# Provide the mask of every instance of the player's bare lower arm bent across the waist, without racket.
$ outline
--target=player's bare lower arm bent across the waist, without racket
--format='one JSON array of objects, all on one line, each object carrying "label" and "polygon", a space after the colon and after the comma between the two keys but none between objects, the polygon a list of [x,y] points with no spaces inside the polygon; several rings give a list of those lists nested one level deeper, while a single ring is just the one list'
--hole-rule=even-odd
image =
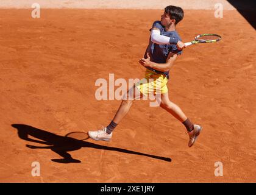
[{"label": "player's bare lower arm bent across the waist, without racket", "polygon": [[174,65],[175,60],[177,59],[177,54],[174,54],[172,52],[169,52],[169,55],[166,59],[166,63],[155,63],[150,61],[149,54],[147,54],[148,58],[147,59],[140,59],[140,64],[143,65],[144,67],[151,67],[154,68],[157,71],[162,71],[166,72],[171,69],[171,66]]}]

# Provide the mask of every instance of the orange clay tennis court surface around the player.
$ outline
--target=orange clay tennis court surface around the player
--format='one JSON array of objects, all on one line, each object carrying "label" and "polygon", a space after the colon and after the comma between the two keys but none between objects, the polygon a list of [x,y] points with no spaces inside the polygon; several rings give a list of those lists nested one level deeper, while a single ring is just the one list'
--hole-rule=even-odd
[{"label": "orange clay tennis court surface around the player", "polygon": [[96,80],[144,76],[138,59],[162,10],[30,13],[0,10],[1,182],[256,182],[255,30],[236,10],[185,10],[177,26],[183,41],[222,36],[186,48],[170,71],[171,101],[204,126],[191,148],[183,125],[149,101],[133,103],[109,143],[79,141],[121,103],[96,100]]}]

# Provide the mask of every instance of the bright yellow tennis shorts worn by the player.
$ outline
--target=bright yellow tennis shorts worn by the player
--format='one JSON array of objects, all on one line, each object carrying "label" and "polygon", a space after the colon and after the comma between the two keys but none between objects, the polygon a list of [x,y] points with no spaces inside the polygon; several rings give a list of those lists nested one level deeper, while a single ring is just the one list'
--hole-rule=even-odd
[{"label": "bright yellow tennis shorts worn by the player", "polygon": [[146,70],[145,76],[135,86],[142,94],[148,96],[149,93],[163,94],[168,92],[166,83],[168,82],[165,74],[157,74],[149,69]]}]

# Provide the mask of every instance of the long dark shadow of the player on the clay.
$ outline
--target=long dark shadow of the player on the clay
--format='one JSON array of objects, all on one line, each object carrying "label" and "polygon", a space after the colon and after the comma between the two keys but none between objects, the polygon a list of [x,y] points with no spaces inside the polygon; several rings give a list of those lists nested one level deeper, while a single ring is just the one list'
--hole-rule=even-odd
[{"label": "long dark shadow of the player on the clay", "polygon": [[[26,141],[34,143],[44,144],[46,146],[32,146],[26,144],[31,149],[51,149],[51,151],[59,154],[61,159],[51,159],[57,163],[80,163],[80,160],[74,159],[68,152],[76,151],[82,147],[92,147],[94,149],[103,149],[108,151],[117,151],[127,154],[143,155],[146,157],[156,158],[164,161],[171,161],[171,158],[159,157],[156,155],[144,154],[141,152],[129,151],[127,149],[121,149],[118,147],[101,146],[99,144],[90,143],[88,141],[81,141],[71,137],[64,137],[56,135],[46,130],[37,129],[26,124],[12,124],[12,127],[18,130],[18,136]],[[34,137],[34,138],[29,138]]]}]

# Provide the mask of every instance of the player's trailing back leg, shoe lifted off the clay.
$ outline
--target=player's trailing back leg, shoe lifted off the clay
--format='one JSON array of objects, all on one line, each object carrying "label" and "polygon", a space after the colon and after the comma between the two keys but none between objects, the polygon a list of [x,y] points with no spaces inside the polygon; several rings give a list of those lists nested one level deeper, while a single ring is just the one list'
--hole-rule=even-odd
[{"label": "player's trailing back leg, shoe lifted off the clay", "polygon": [[188,135],[190,137],[190,141],[188,142],[188,146],[191,147],[194,144],[194,141],[196,141],[197,137],[199,136],[202,127],[193,124],[190,119],[187,118],[187,116],[182,112],[180,107],[173,102],[169,101],[168,93],[161,94],[161,104],[160,107],[165,109],[167,112],[171,113],[172,116],[174,116],[176,119],[178,119],[182,124],[186,127],[188,131]]}]

